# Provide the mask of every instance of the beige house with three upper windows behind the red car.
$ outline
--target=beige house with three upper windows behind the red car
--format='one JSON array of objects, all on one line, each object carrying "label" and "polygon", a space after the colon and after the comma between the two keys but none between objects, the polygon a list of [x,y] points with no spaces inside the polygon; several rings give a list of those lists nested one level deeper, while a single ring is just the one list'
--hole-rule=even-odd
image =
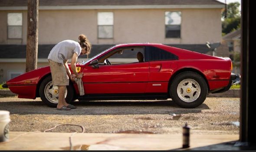
[{"label": "beige house with three upper windows behind the red car", "polygon": [[[223,8],[217,0],[39,0],[37,67],[48,65],[55,44],[78,41],[80,34],[92,43],[89,58],[114,44],[132,42],[212,55],[205,44],[222,40]],[[4,82],[25,72],[27,0],[0,0],[0,33],[0,82]]]}]

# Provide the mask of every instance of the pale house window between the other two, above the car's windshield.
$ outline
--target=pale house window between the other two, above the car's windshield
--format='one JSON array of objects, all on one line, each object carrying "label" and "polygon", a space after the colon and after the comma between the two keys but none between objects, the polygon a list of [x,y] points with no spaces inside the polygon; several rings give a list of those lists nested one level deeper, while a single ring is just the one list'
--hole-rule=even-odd
[{"label": "pale house window between the other two, above the car's windshield", "polygon": [[98,38],[113,38],[113,12],[98,12]]}]

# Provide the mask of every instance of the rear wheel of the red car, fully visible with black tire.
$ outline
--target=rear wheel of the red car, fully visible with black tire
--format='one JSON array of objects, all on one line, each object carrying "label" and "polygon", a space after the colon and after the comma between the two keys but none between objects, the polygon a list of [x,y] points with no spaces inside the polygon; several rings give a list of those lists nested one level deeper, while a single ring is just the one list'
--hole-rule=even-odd
[{"label": "rear wheel of the red car, fully visible with black tire", "polygon": [[208,94],[208,86],[203,77],[195,72],[179,73],[171,81],[170,96],[182,108],[196,108]]}]

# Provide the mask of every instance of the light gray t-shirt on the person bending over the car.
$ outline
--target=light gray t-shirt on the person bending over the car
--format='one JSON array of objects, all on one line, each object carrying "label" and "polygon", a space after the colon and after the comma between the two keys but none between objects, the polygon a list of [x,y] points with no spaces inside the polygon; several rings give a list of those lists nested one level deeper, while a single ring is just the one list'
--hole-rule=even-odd
[{"label": "light gray t-shirt on the person bending over the car", "polygon": [[53,49],[50,51],[48,59],[63,64],[63,61],[71,59],[74,53],[79,56],[81,51],[82,48],[78,42],[73,40],[64,40],[53,47]]}]

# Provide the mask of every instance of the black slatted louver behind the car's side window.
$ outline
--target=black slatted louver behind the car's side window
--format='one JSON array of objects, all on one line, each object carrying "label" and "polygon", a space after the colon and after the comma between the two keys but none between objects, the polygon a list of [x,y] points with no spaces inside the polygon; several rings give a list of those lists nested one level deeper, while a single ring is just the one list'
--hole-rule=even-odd
[{"label": "black slatted louver behind the car's side window", "polygon": [[178,60],[176,55],[153,46],[146,46],[145,57],[146,61]]}]

